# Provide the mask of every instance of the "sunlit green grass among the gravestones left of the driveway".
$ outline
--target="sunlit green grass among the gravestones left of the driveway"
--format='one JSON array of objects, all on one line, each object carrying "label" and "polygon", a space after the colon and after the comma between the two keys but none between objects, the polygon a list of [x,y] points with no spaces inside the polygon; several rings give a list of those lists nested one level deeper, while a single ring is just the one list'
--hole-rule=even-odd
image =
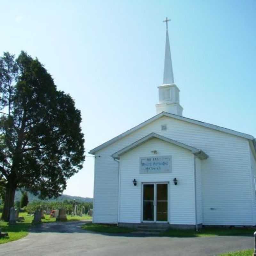
[{"label": "sunlit green grass among the gravestones left of the driveway", "polygon": [[[49,214],[44,214],[45,219],[42,219],[42,222],[54,222],[56,218],[50,218]],[[24,236],[28,235],[28,229],[32,225],[32,220],[34,219],[33,216],[27,216],[27,212],[20,212],[19,217],[24,217],[25,220],[22,222],[17,222],[16,224],[9,224],[8,222],[0,220],[0,228],[2,232],[8,233],[8,238],[0,238],[0,244],[4,244],[7,242],[18,240]],[[80,216],[71,216],[67,215],[68,221],[72,220],[90,220],[91,216],[84,215],[83,217]]]}]

